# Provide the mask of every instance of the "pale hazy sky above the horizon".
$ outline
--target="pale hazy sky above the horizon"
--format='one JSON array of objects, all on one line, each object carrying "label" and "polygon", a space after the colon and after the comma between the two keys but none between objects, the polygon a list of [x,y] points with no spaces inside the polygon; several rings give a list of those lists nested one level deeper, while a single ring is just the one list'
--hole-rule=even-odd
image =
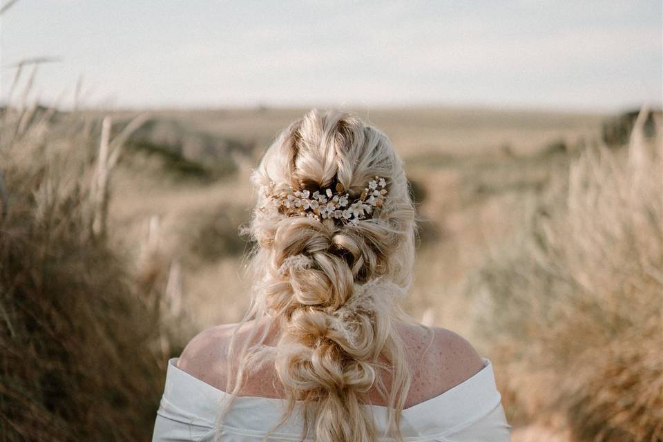
[{"label": "pale hazy sky above the horizon", "polygon": [[[7,0],[2,0],[2,3]],[[70,106],[661,106],[662,1],[19,0],[0,22],[0,99],[21,59]]]}]

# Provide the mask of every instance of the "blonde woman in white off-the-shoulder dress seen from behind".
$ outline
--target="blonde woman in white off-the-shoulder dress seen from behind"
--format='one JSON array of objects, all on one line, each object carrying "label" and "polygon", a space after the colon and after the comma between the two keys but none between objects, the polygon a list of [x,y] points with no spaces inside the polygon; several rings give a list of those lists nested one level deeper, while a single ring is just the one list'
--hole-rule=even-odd
[{"label": "blonde woman in white off-the-shoulder dress seen from behind", "polygon": [[169,362],[153,441],[509,441],[488,359],[399,307],[414,206],[387,137],[311,111],[253,182],[253,301]]}]

